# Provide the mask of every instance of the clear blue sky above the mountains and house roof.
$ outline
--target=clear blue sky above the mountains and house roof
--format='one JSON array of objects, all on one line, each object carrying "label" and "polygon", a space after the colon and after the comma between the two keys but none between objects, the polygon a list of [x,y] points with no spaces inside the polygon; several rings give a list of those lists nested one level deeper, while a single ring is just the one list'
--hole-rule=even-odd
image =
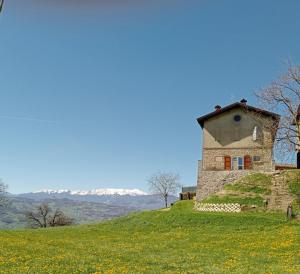
[{"label": "clear blue sky above the mountains and house roof", "polygon": [[196,118],[300,63],[299,0],[9,0],[0,177],[10,192],[196,183]]}]

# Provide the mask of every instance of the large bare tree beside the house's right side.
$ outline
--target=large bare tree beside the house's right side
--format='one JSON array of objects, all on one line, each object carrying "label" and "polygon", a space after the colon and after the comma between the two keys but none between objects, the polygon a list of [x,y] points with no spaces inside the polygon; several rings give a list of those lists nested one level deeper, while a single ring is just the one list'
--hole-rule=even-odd
[{"label": "large bare tree beside the house's right side", "polygon": [[281,115],[276,151],[281,158],[290,156],[300,144],[300,66],[290,66],[284,75],[255,95],[263,108]]}]

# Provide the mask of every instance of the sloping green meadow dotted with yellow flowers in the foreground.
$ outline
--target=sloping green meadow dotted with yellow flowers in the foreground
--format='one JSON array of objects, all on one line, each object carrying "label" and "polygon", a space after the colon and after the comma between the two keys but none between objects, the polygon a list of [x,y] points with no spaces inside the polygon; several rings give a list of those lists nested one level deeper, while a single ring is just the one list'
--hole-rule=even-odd
[{"label": "sloping green meadow dotted with yellow flowers in the foreground", "polygon": [[0,232],[0,273],[300,273],[284,215],[201,213],[192,202],[70,228]]}]

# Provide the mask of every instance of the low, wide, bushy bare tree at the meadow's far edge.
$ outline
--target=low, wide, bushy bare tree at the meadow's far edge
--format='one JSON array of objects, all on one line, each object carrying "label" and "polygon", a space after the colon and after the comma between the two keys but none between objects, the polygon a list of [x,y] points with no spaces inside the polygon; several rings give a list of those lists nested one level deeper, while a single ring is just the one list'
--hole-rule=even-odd
[{"label": "low, wide, bushy bare tree at the meadow's far edge", "polygon": [[36,211],[26,212],[26,218],[32,228],[67,226],[73,224],[73,220],[67,217],[61,210],[57,209],[52,214],[52,209],[46,203],[38,206]]}]

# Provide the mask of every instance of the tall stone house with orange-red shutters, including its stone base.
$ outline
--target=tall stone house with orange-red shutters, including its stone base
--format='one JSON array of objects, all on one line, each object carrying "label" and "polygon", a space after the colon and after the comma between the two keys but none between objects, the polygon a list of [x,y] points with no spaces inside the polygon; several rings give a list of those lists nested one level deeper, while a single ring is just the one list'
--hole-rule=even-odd
[{"label": "tall stone house with orange-red shutters, including its stone base", "polygon": [[197,200],[251,172],[275,170],[273,145],[280,116],[245,99],[197,119],[203,129]]}]

